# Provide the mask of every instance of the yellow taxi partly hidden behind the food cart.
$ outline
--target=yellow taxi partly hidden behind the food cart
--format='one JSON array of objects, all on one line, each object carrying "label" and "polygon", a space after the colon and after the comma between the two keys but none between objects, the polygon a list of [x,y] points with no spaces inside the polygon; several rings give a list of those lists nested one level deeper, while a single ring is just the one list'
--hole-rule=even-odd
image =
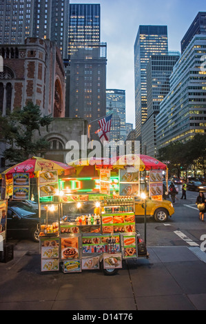
[{"label": "yellow taxi partly hidden behind the food cart", "polygon": [[[147,216],[154,217],[155,221],[159,223],[165,223],[174,214],[174,207],[171,201],[152,201],[152,199],[147,198],[146,207]],[[135,215],[145,215],[144,199],[135,198]]]}]

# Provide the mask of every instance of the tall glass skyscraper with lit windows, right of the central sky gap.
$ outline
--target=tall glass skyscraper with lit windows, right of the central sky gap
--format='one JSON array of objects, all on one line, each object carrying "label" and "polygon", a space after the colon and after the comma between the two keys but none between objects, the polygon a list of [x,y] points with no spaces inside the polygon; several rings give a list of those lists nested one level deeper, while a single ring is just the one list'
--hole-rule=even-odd
[{"label": "tall glass skyscraper with lit windows, right of the central sky gap", "polygon": [[134,43],[136,138],[147,119],[147,63],[151,55],[168,53],[167,26],[140,26]]}]

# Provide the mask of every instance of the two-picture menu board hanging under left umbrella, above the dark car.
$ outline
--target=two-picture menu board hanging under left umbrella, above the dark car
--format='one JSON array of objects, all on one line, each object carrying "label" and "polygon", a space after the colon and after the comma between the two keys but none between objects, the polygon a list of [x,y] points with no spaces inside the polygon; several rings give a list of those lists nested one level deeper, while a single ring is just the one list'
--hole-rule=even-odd
[{"label": "two-picture menu board hanging under left umbrella, above the dark car", "polygon": [[13,199],[15,200],[30,199],[30,174],[29,173],[13,174]]}]

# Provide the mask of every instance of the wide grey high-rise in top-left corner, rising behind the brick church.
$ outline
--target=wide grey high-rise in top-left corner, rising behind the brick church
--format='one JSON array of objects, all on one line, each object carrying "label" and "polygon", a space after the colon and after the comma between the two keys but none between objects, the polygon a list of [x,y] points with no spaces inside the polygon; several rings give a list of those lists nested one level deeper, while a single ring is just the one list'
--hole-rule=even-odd
[{"label": "wide grey high-rise in top-left corner, rising behind the brick church", "polygon": [[70,0],[5,0],[0,2],[0,43],[23,44],[27,37],[50,39],[68,57]]}]

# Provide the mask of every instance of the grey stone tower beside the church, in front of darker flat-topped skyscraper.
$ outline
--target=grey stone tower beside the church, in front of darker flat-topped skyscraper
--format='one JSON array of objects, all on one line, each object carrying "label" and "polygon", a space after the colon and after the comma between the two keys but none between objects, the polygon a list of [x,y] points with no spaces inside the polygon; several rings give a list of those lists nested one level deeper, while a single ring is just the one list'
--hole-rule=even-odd
[{"label": "grey stone tower beside the church, in front of darker flat-topped skyscraper", "polygon": [[106,49],[106,43],[91,43],[71,56],[69,117],[92,122],[92,134],[99,128],[97,119],[106,115]]}]

